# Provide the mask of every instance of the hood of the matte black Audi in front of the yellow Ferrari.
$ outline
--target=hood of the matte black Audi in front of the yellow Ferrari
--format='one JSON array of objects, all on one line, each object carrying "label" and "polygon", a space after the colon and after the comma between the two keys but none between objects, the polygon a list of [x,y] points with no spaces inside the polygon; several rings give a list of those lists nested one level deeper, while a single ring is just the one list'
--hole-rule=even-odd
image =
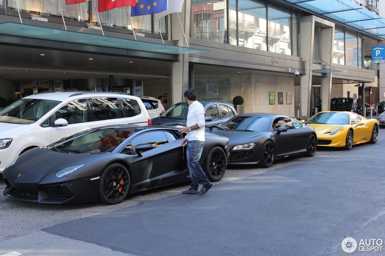
[{"label": "hood of the matte black Audi in front of the yellow Ferrari", "polygon": [[266,132],[259,131],[232,131],[219,129],[213,129],[213,133],[229,138],[229,146],[253,143],[266,134]]}]

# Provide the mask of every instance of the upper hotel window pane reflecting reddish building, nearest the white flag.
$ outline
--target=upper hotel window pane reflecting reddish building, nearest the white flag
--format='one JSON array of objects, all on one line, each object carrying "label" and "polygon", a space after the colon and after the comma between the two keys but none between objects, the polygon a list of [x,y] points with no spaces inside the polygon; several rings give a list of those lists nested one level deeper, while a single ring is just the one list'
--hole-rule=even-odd
[{"label": "upper hotel window pane reflecting reddish building, nearest the white flag", "polygon": [[226,1],[192,0],[191,37],[227,43]]}]

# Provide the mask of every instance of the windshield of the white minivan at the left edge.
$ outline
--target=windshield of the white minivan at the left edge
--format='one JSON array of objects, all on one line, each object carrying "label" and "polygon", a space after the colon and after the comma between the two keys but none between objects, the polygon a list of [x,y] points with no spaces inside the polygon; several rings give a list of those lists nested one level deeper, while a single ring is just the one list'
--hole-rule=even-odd
[{"label": "windshield of the white minivan at the left edge", "polygon": [[60,101],[22,99],[0,111],[0,122],[30,125],[47,114]]}]

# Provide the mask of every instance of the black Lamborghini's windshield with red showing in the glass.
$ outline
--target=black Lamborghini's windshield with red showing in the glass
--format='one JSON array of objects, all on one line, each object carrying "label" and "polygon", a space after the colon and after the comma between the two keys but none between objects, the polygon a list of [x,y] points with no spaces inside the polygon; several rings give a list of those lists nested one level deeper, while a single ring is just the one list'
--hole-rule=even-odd
[{"label": "black Lamborghini's windshield with red showing in the glass", "polygon": [[91,132],[79,133],[73,140],[53,143],[58,150],[67,152],[110,152],[119,146],[129,136],[146,129],[145,127],[100,128]]}]

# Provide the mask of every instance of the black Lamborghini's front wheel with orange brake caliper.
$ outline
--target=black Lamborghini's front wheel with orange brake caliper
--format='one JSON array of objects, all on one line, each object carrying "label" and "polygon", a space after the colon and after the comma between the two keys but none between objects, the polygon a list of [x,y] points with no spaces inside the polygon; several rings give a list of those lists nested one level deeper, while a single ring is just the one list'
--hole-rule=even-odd
[{"label": "black Lamborghini's front wheel with orange brake caliper", "polygon": [[130,188],[130,175],[123,165],[108,165],[99,180],[99,201],[104,204],[118,204],[126,198]]}]

